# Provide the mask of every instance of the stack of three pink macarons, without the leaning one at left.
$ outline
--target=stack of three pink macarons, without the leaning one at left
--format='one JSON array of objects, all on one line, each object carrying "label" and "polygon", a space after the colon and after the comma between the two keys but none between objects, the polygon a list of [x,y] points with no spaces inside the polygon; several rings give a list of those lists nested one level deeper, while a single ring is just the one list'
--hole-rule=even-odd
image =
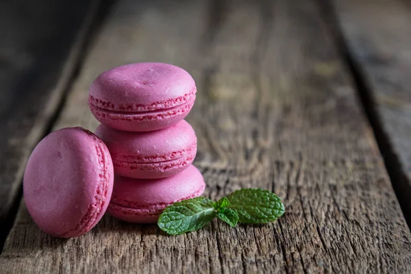
[{"label": "stack of three pink macarons, without the leaning one at left", "polygon": [[197,138],[183,120],[195,94],[190,74],[171,64],[128,64],[95,79],[88,103],[114,166],[112,216],[155,223],[166,206],[203,193]]}]

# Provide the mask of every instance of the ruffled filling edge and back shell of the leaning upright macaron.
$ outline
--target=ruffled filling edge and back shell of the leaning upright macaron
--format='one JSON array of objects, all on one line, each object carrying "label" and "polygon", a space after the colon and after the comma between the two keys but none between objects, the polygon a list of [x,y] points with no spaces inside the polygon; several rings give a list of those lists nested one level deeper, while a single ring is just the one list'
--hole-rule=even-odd
[{"label": "ruffled filling edge and back shell of the leaning upright macaron", "polygon": [[70,238],[73,236],[77,236],[79,233],[84,234],[88,232],[92,227],[94,227],[97,222],[100,220],[100,214],[103,212],[103,208],[105,206],[105,201],[106,199],[110,198],[108,197],[108,188],[109,188],[109,177],[108,175],[108,162],[110,159],[107,159],[105,155],[108,153],[107,149],[105,149],[105,145],[99,138],[95,136],[95,134],[92,134],[86,129],[83,129],[82,127],[77,127],[78,129],[81,129],[83,132],[88,134],[90,138],[92,138],[95,141],[95,149],[96,149],[96,154],[98,158],[99,164],[99,179],[100,182],[97,184],[97,189],[95,192],[95,197],[88,207],[88,210],[86,214],[84,214],[84,217],[82,218],[82,221],[80,221],[73,229],[71,229],[69,232],[65,232],[63,234],[58,234],[54,236],[59,236],[63,238]]}]

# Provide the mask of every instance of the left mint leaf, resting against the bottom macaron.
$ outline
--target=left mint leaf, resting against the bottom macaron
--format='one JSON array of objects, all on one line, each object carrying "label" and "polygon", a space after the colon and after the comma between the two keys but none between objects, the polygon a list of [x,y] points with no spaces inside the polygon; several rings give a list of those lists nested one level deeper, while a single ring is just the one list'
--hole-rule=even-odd
[{"label": "left mint leaf, resting against the bottom macaron", "polygon": [[166,207],[158,219],[158,227],[171,235],[195,231],[210,223],[216,216],[214,203],[197,197],[173,203]]}]

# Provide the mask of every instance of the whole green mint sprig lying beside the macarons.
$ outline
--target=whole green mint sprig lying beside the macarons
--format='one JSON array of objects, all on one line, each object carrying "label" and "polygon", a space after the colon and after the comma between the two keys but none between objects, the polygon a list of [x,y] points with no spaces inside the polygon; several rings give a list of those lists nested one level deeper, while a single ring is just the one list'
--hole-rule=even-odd
[{"label": "whole green mint sprig lying beside the macarons", "polygon": [[219,201],[197,197],[168,206],[158,227],[171,235],[195,231],[216,216],[235,227],[237,223],[269,223],[284,214],[281,199],[269,190],[242,188]]}]

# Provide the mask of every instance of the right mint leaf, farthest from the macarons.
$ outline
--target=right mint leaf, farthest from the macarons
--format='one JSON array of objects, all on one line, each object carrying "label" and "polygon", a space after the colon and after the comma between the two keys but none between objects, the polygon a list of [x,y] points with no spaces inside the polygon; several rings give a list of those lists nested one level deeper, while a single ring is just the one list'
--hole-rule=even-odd
[{"label": "right mint leaf, farthest from the macarons", "polygon": [[227,199],[231,204],[227,208],[236,210],[239,223],[269,223],[284,214],[281,199],[269,190],[242,188]]}]

